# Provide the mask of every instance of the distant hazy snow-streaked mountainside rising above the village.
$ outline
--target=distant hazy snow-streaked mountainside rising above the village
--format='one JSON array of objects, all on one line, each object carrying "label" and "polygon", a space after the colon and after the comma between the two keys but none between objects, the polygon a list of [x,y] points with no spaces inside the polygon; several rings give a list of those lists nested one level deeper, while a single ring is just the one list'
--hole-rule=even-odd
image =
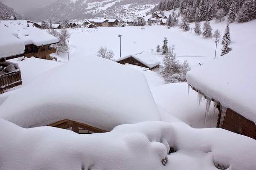
[{"label": "distant hazy snow-streaked mountainside rising above the village", "polygon": [[145,9],[150,11],[158,0],[58,0],[44,8],[31,10],[25,14],[29,20],[88,19],[91,17],[132,17]]}]

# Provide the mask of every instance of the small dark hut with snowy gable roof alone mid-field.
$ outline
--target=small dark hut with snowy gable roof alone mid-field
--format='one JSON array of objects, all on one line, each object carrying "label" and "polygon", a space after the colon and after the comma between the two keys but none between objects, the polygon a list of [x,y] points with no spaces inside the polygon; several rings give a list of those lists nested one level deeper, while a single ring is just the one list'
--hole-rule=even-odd
[{"label": "small dark hut with snowy gable roof alone mid-field", "polygon": [[118,62],[120,64],[128,63],[132,65],[137,65],[137,66],[149,68],[150,70],[153,70],[154,68],[157,68],[160,66],[160,61],[156,59],[154,55],[145,51],[139,54],[121,57],[119,59],[116,59],[115,62]]}]

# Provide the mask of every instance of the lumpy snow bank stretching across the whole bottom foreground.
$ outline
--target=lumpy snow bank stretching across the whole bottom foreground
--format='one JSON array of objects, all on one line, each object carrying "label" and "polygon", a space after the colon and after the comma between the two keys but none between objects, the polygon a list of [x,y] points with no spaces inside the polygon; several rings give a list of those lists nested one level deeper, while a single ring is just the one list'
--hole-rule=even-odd
[{"label": "lumpy snow bank stretching across the whole bottom foreground", "polygon": [[[168,155],[170,147],[177,152]],[[0,119],[4,170],[216,170],[218,164],[228,170],[253,170],[255,150],[254,139],[184,123],[143,122],[79,135],[55,127],[23,129]]]}]

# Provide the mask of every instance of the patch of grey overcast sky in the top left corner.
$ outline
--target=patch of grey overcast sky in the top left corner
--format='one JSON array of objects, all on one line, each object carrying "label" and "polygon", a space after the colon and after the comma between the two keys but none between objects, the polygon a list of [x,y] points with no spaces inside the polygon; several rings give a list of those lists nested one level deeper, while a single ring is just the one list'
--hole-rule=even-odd
[{"label": "patch of grey overcast sky in the top left corner", "polygon": [[56,0],[0,0],[2,3],[14,8],[15,11],[23,14],[31,8],[40,8]]}]

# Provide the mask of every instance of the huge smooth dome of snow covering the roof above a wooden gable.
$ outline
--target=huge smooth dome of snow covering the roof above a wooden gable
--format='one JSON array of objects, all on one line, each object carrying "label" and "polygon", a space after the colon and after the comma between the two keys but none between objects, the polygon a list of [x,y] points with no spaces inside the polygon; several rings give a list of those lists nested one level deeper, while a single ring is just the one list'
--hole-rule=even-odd
[{"label": "huge smooth dome of snow covering the roof above a wooden gable", "polygon": [[72,119],[104,130],[160,120],[144,75],[100,57],[77,59],[41,74],[3,102],[0,117],[21,127]]}]

